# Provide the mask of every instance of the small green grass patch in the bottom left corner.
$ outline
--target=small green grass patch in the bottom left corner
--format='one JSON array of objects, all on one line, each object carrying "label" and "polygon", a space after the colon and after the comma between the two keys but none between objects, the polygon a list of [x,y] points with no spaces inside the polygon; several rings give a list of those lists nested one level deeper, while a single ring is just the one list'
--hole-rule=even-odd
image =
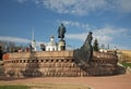
[{"label": "small green grass patch in the bottom left corner", "polygon": [[4,85],[0,86],[0,89],[29,89],[27,86],[21,86],[21,85]]}]

